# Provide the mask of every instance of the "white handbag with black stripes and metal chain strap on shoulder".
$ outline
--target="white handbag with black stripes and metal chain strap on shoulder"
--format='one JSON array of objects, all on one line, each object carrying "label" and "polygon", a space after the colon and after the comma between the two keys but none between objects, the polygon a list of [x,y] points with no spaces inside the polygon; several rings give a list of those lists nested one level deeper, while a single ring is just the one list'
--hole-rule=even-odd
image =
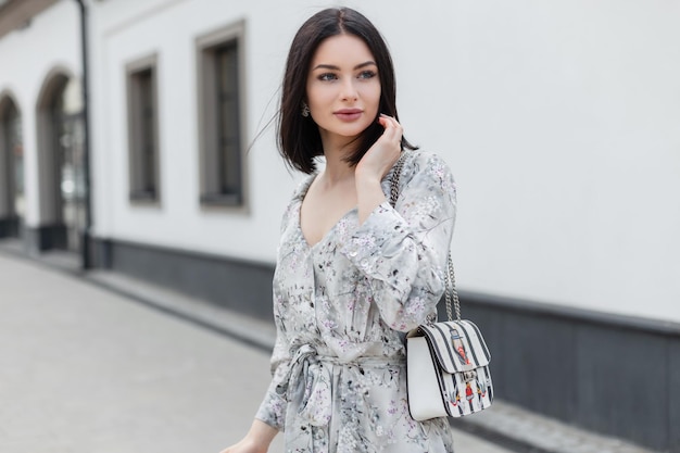
[{"label": "white handbag with black stripes and metal chain strap on shoulder", "polygon": [[[402,156],[391,180],[392,206],[399,197]],[[448,322],[430,322],[406,335],[408,410],[415,420],[462,417],[491,405],[493,385],[489,373],[491,355],[475,324],[461,319],[453,262],[449,253],[446,273]],[[451,304],[455,306],[453,319]]]}]

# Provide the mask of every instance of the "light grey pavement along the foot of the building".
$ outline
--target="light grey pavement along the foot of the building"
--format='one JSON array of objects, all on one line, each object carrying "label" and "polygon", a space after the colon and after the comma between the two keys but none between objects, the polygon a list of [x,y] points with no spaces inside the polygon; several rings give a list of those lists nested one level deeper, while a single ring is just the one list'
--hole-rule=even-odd
[{"label": "light grey pavement along the foot of the building", "polygon": [[[260,404],[272,334],[143,282],[0,250],[0,452],[219,452]],[[455,437],[458,453],[509,452]]]}]

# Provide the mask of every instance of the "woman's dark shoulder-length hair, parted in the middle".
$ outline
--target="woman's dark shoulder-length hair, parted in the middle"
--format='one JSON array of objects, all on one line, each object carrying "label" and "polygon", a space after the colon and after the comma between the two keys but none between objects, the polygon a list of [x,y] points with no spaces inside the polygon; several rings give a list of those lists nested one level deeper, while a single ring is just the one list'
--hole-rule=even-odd
[{"label": "woman's dark shoulder-length hair, parted in the middle", "polygon": [[[312,58],[326,38],[337,35],[353,35],[362,39],[378,66],[380,79],[380,105],[378,114],[396,114],[396,84],[394,65],[378,29],[364,15],[350,8],[329,8],[310,17],[293,38],[286,63],[281,106],[278,121],[279,152],[294,168],[304,173],[316,171],[314,158],[324,154],[318,126],[312,116],[302,116],[302,102],[306,98],[307,74]],[[368,149],[382,135],[385,128],[375,118],[357,138],[356,150],[348,156],[351,165],[356,165]],[[417,149],[402,137],[403,149]]]}]

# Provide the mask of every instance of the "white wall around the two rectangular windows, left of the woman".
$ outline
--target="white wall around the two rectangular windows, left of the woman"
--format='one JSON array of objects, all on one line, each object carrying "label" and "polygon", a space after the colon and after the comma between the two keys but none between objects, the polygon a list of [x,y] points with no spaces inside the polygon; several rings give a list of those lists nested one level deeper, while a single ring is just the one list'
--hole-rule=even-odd
[{"label": "white wall around the two rectangular windows, left of the woman", "polygon": [[[96,232],[207,253],[270,262],[280,214],[294,187],[274,146],[273,128],[247,155],[248,211],[202,209],[199,204],[196,39],[245,21],[247,140],[274,114],[276,90],[290,32],[281,27],[287,8],[257,2],[167,1],[111,2],[97,10],[102,77],[96,77],[96,175],[105,180],[98,192]],[[257,13],[261,11],[261,13]],[[307,12],[315,9],[305,8]],[[113,20],[111,17],[114,17]],[[291,23],[298,23],[295,18]],[[290,23],[286,24],[291,28]],[[278,36],[286,38],[278,39]],[[160,99],[161,206],[131,205],[127,200],[125,65],[158,55]],[[267,103],[274,99],[269,110]],[[105,212],[104,212],[105,211]]]}]

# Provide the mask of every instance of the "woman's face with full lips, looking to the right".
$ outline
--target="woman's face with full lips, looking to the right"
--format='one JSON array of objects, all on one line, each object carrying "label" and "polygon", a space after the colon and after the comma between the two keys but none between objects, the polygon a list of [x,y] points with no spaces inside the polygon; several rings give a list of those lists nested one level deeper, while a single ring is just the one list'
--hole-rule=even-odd
[{"label": "woman's face with full lips, looking to the right", "polygon": [[363,133],[380,105],[378,66],[368,46],[353,35],[325,39],[312,58],[306,93],[325,147]]}]

